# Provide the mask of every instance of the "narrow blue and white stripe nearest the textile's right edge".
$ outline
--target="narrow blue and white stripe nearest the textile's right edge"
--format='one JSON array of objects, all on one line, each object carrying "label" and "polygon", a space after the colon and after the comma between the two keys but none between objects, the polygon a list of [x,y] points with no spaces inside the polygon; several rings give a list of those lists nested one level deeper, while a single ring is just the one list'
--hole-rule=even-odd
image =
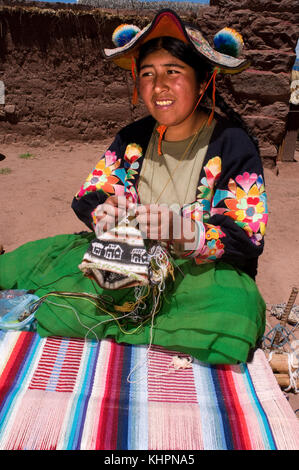
[{"label": "narrow blue and white stripe nearest the textile's right edge", "polygon": [[247,364],[240,364],[240,368],[244,372],[246,377],[246,380],[244,380],[245,386],[247,388],[248,395],[251,397],[252,406],[256,410],[256,415],[260,423],[260,430],[265,443],[265,449],[277,450],[277,446],[271,431],[271,427],[269,425],[268,418],[256,394]]}]

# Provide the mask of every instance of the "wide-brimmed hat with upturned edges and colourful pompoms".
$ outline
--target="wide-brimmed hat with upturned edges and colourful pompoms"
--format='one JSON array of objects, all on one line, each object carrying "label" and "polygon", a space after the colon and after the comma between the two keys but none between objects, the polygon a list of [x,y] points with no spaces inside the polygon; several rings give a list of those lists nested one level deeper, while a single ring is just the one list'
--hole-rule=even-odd
[{"label": "wide-brimmed hat with upturned edges and colourful pompoms", "polygon": [[132,59],[138,57],[141,45],[161,36],[174,37],[190,44],[199,58],[217,67],[220,73],[239,73],[250,65],[247,59],[239,58],[243,39],[237,31],[231,28],[219,31],[214,37],[213,48],[198,27],[184,24],[170,9],[159,11],[142,30],[134,25],[118,26],[113,33],[113,42],[117,47],[104,49],[104,57],[123,69],[131,70]]}]

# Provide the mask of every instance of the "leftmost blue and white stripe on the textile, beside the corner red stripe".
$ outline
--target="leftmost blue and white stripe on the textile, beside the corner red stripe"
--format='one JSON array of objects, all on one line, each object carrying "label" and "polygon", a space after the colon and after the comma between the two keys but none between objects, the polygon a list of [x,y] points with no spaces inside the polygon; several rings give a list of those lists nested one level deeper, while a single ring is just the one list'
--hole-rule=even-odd
[{"label": "leftmost blue and white stripe on the textile, beside the corner red stripe", "polygon": [[[9,334],[17,334],[19,336],[19,333],[7,333],[7,335]],[[13,404],[18,399],[19,394],[25,389],[24,384],[28,381],[30,373],[35,366],[35,356],[38,354],[40,346],[42,346],[42,341],[43,340],[38,335],[32,334],[31,341],[27,344],[26,351],[24,351],[24,349],[22,350],[24,359],[20,364],[13,383],[10,385],[9,392],[3,400],[0,410],[0,438],[14,410]]]}]

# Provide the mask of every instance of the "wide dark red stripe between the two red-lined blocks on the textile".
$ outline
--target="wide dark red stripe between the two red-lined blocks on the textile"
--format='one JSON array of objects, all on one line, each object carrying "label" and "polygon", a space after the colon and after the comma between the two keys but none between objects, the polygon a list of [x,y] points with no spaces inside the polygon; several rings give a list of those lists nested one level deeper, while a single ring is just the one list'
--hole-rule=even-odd
[{"label": "wide dark red stripe between the two red-lined blocks on the textile", "polygon": [[98,423],[96,450],[114,450],[117,447],[118,409],[123,357],[124,345],[111,342],[105,391]]}]

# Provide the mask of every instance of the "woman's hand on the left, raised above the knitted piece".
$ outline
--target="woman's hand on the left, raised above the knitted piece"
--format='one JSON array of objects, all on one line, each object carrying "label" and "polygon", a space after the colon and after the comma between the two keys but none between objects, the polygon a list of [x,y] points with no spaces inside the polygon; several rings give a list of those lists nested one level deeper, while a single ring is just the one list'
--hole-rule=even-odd
[{"label": "woman's hand on the left, raised above the knitted piece", "polygon": [[100,204],[94,212],[96,236],[99,237],[103,232],[116,227],[119,221],[125,217],[130,204],[125,196],[110,196],[104,204]]}]

